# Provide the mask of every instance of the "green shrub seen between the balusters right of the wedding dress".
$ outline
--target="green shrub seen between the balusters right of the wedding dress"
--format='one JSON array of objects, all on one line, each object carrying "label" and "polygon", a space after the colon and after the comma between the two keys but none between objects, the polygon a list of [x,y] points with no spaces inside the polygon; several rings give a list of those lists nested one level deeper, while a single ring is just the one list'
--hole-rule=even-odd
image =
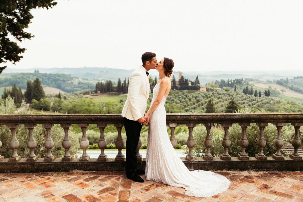
[{"label": "green shrub seen between the balusters right of the wedding dress", "polygon": [[[290,126],[286,126],[282,129],[282,138],[285,142],[291,142],[291,136],[293,136],[289,127]],[[247,127],[246,136],[248,139],[248,147],[245,151],[248,156],[255,156],[255,154],[258,154],[259,148],[257,146],[257,139],[259,137],[259,134],[259,127],[255,123],[251,123],[250,126]],[[241,135],[242,129],[240,125],[232,124],[232,126],[229,127],[228,137],[231,141],[231,146],[228,148],[228,153],[232,157],[236,157],[241,153],[241,146],[239,145]],[[265,156],[271,156],[277,151],[274,145],[276,135],[277,129],[275,125],[269,123],[268,126],[264,129],[264,138],[266,145],[263,149],[263,153]],[[211,128],[210,136],[213,141],[213,146],[211,147],[210,152],[213,156],[219,157],[224,152],[224,148],[221,145],[221,141],[224,136],[223,127],[221,127],[221,125],[215,124],[214,127]],[[206,152],[206,148],[204,146],[206,128],[202,124],[197,125],[193,130],[193,137],[195,140],[195,147],[193,148],[193,152],[195,153],[195,156],[201,157]],[[188,153],[187,146],[184,146],[184,149]],[[283,151],[281,153],[284,156],[288,155]]]}]

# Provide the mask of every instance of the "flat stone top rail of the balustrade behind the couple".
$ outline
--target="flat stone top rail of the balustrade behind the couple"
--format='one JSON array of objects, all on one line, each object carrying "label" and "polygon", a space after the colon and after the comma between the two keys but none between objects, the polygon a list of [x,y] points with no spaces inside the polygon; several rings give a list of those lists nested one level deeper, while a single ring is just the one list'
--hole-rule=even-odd
[{"label": "flat stone top rail of the balustrade behind the couple", "polygon": [[[303,123],[303,113],[169,113],[167,123]],[[1,114],[0,124],[123,123],[121,114]]]}]

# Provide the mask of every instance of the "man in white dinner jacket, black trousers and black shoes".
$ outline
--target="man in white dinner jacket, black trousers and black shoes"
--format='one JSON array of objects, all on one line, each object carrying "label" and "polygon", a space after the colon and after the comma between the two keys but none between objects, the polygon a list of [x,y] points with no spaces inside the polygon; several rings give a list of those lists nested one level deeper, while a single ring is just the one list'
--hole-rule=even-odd
[{"label": "man in white dinner jacket, black trousers and black shoes", "polygon": [[143,118],[149,97],[149,73],[147,71],[155,69],[158,64],[156,54],[151,52],[143,53],[141,59],[142,65],[132,73],[129,79],[127,99],[121,114],[126,132],[126,176],[136,182],[144,182],[138,174],[145,173],[143,170],[136,169],[136,148],[142,124],[147,125],[148,123],[148,120]]}]

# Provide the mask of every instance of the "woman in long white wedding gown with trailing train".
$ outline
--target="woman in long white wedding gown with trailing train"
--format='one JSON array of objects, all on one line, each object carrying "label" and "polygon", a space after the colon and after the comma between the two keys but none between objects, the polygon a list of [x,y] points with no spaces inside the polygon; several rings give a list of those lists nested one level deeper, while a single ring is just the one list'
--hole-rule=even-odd
[{"label": "woman in long white wedding gown with trailing train", "polygon": [[171,145],[166,129],[165,100],[171,89],[169,77],[174,62],[163,58],[156,66],[159,80],[153,90],[151,107],[145,115],[149,122],[145,177],[146,180],[185,188],[185,194],[211,197],[228,189],[230,181],[211,171],[189,171]]}]

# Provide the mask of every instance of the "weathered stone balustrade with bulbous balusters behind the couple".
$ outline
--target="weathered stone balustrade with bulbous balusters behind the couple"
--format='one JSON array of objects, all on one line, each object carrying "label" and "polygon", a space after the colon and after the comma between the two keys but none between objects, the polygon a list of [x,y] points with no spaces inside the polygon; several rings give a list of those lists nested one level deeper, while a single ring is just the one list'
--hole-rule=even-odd
[{"label": "weathered stone balustrade with bulbous balusters behind the couple", "polygon": [[[210,135],[211,127],[214,124],[221,124],[224,129],[224,137],[222,139],[222,147],[224,148],[223,154],[220,157],[213,157],[210,153],[210,148],[213,142]],[[254,157],[248,157],[245,153],[245,148],[248,146],[248,139],[246,134],[247,127],[255,123],[260,129],[260,134],[257,140],[259,152]],[[264,129],[268,123],[273,123],[277,127],[277,137],[275,138],[275,146],[277,151],[271,157],[265,156],[263,148],[266,145],[264,138]],[[295,128],[295,136],[291,144],[294,151],[289,157],[284,157],[281,154],[281,147],[283,140],[281,138],[281,129],[286,123],[291,123]],[[11,140],[9,147],[12,149],[12,156],[5,159],[0,154],[0,172],[45,172],[45,171],[71,171],[71,170],[124,170],[125,169],[125,156],[122,154],[124,141],[121,136],[123,127],[123,119],[120,114],[43,114],[43,115],[0,115],[0,124],[6,125],[11,130]],[[42,124],[46,130],[45,148],[47,155],[45,158],[40,159],[34,153],[37,144],[33,137],[33,129],[37,124]],[[65,154],[62,158],[52,155],[52,148],[54,142],[50,135],[51,129],[54,124],[60,124],[63,128],[65,136],[62,140],[62,147],[65,149]],[[78,124],[82,129],[82,138],[80,140],[80,147],[83,150],[81,158],[76,158],[70,155],[69,148],[72,143],[68,137],[68,130],[71,124]],[[89,146],[89,141],[86,137],[86,129],[89,124],[97,124],[100,129],[100,139],[98,146],[101,150],[98,158],[90,158],[86,150]],[[106,148],[106,140],[104,137],[104,129],[108,124],[114,124],[118,131],[118,137],[115,142],[118,148],[118,154],[115,158],[107,158],[104,149]],[[186,145],[189,153],[186,158],[181,158],[185,165],[193,169],[202,170],[280,170],[280,171],[296,171],[303,170],[302,157],[298,154],[298,148],[301,146],[300,127],[303,126],[302,113],[243,113],[243,114],[167,114],[167,124],[171,129],[170,141],[173,147],[177,145],[175,139],[175,127],[177,124],[185,124],[188,127],[188,139]],[[206,153],[201,158],[195,157],[193,148],[195,140],[192,131],[196,124],[203,124],[206,128],[206,138],[204,145]],[[228,148],[231,141],[228,138],[228,129],[232,124],[239,124],[242,129],[239,145],[241,146],[241,153],[237,157],[231,157],[228,154]],[[29,138],[27,147],[30,154],[26,159],[22,159],[17,154],[19,147],[18,139],[16,138],[15,131],[18,125],[24,125],[28,129]],[[2,142],[0,140],[0,147]],[[145,158],[140,155],[140,147],[142,145],[139,140],[136,155],[138,167],[145,167]],[[266,163],[265,163],[266,162]]]}]

